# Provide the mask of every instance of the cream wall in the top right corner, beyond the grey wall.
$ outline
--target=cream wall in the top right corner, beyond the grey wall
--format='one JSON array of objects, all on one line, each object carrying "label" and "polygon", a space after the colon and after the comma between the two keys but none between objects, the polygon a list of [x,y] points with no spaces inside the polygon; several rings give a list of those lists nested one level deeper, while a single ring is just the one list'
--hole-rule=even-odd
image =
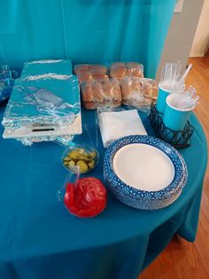
[{"label": "cream wall in the top right corner, beyond the grey wall", "polygon": [[203,57],[209,46],[209,0],[205,0],[199,18],[190,57]]}]

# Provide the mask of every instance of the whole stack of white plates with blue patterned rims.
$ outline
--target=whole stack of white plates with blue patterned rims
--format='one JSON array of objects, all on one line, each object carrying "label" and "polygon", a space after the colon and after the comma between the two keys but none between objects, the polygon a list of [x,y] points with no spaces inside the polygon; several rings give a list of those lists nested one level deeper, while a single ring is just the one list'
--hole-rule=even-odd
[{"label": "whole stack of white plates with blue patterned rims", "polygon": [[124,137],[104,155],[104,179],[112,195],[138,209],[155,210],[173,203],[187,178],[182,155],[154,137]]}]

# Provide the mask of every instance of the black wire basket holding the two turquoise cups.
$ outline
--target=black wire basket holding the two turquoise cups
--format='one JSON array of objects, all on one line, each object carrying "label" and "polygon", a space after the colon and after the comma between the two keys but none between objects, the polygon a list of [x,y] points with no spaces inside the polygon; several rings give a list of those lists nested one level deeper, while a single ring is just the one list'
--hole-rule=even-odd
[{"label": "black wire basket holding the two turquoise cups", "polygon": [[194,127],[190,124],[190,121],[187,122],[182,131],[174,131],[167,128],[163,123],[163,115],[159,113],[156,108],[155,101],[151,103],[151,114],[149,119],[151,121],[151,126],[159,139],[165,140],[176,149],[190,147],[191,136],[194,132]]}]

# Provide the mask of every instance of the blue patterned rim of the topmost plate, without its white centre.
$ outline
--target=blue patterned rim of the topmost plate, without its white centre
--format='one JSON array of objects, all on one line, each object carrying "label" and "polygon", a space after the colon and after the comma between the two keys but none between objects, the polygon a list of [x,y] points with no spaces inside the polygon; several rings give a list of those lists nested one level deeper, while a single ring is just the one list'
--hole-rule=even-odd
[{"label": "blue patterned rim of the topmost plate, without its white centre", "polygon": [[[129,186],[115,174],[113,170],[114,155],[121,147],[133,143],[143,143],[152,147],[156,147],[168,156],[168,158],[174,165],[174,179],[169,185],[157,191],[140,190],[135,187]],[[178,168],[180,168],[181,170],[177,168],[177,164]],[[178,171],[181,172],[178,173]],[[131,195],[135,196],[136,198],[147,199],[165,199],[170,197],[171,195],[175,195],[179,190],[182,189],[182,187],[184,187],[188,179],[188,170],[186,163],[182,158],[182,155],[164,140],[160,140],[149,135],[130,135],[112,142],[112,144],[106,149],[104,154],[104,173],[106,179],[114,187],[117,187],[118,189],[120,189],[120,191],[122,190],[124,195]]]}]

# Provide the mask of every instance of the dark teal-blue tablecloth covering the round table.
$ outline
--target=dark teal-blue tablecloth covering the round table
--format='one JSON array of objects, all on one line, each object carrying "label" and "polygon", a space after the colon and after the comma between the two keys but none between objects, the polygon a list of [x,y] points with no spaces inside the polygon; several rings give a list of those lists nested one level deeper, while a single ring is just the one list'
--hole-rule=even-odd
[{"label": "dark teal-blue tablecloth covering the round table", "polygon": [[[82,114],[93,141],[94,116],[94,111]],[[143,121],[151,134],[148,119]],[[67,174],[60,163],[64,147],[53,142],[23,147],[1,139],[0,278],[134,279],[175,233],[194,241],[206,141],[196,116],[191,123],[192,146],[181,151],[189,179],[177,201],[159,211],[140,211],[109,194],[107,208],[94,219],[77,219],[58,203],[56,192]],[[90,175],[103,179],[104,148],[98,135],[100,161]],[[76,141],[89,142],[87,133]]]}]

